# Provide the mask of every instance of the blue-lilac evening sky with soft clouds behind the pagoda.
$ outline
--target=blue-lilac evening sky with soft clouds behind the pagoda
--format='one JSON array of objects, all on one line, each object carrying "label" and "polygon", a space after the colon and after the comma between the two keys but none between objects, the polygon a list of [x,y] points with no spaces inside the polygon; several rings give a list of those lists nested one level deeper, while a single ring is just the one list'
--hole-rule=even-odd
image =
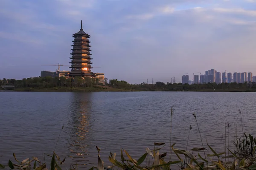
[{"label": "blue-lilac evening sky with soft clouds behind the pagoda", "polygon": [[211,68],[256,75],[256,0],[0,0],[0,79],[70,65],[81,20],[92,71],[108,79],[180,82]]}]

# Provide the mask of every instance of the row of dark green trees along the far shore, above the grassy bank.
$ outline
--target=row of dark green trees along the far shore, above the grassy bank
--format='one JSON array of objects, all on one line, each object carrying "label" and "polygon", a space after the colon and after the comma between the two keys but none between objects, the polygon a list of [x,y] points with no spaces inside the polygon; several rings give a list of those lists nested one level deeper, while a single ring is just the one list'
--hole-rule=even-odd
[{"label": "row of dark green trees along the far shore, above the grassy bank", "polygon": [[[255,82],[244,83],[206,83],[206,84],[182,84],[182,83],[164,83],[155,84],[130,84],[124,80],[110,79],[104,80],[106,86],[113,88],[134,90],[134,91],[246,91],[255,90]],[[103,85],[99,79],[85,77],[75,77],[66,79],[65,77],[32,77],[27,79],[0,79],[0,86],[15,85],[16,88],[53,88],[53,87],[93,87]]]}]

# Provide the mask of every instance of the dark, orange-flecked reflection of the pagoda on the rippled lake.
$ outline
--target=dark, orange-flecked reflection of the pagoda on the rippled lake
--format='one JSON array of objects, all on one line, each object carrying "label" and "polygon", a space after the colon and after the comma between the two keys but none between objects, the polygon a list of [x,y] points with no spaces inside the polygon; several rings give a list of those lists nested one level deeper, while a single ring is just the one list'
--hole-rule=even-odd
[{"label": "dark, orange-flecked reflection of the pagoda on the rippled lake", "polygon": [[69,157],[78,165],[85,165],[88,162],[88,149],[90,148],[91,126],[91,101],[90,93],[74,93],[73,102],[70,105],[70,119],[67,122],[67,135]]}]

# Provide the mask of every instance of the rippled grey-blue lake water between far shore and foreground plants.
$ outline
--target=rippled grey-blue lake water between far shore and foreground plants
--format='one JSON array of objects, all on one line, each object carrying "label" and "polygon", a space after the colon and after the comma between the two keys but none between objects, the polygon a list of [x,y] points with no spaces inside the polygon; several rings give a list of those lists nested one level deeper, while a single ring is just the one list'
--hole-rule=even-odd
[{"label": "rippled grey-blue lake water between far shore and foreground plants", "polygon": [[67,157],[66,164],[87,168],[97,165],[96,145],[105,165],[109,152],[119,155],[121,148],[138,159],[154,142],[166,142],[162,152],[168,152],[171,106],[176,148],[186,149],[190,125],[188,149],[201,147],[195,112],[205,145],[207,140],[224,150],[226,120],[233,149],[234,122],[241,136],[239,109],[244,131],[255,134],[255,99],[256,93],[0,92],[0,163],[14,160],[12,153],[20,161],[32,156],[43,161],[44,153],[55,149],[61,159]]}]

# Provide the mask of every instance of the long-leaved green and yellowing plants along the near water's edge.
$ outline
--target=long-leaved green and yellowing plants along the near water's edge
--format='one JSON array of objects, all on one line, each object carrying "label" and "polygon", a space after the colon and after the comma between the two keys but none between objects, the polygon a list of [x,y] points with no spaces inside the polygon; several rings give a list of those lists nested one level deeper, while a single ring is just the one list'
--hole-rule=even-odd
[{"label": "long-leaved green and yellowing plants along the near water's edge", "polygon": [[[171,109],[171,119],[174,109]],[[170,145],[169,159],[167,152],[161,152],[165,147],[165,143],[154,143],[153,147],[145,149],[139,159],[134,159],[128,151],[121,149],[120,154],[110,153],[108,156],[109,162],[103,162],[100,156],[100,149],[98,150],[98,163],[97,166],[91,167],[90,170],[255,170],[256,169],[256,137],[251,134],[244,133],[241,116],[241,130],[242,136],[238,138],[237,125],[234,123],[234,136],[236,139],[233,141],[235,150],[230,150],[229,136],[231,136],[229,127],[230,124],[225,123],[225,139],[222,138],[224,144],[224,150],[221,153],[217,153],[208,142],[204,146],[201,132],[200,132],[200,120],[198,120],[195,113],[192,116],[195,118],[196,131],[198,132],[198,139],[201,140],[201,146],[192,147],[188,149],[189,133],[192,127],[189,127],[187,145],[183,149],[177,149],[176,143]],[[170,126],[172,129],[172,125]],[[63,127],[62,127],[63,128]],[[61,134],[61,133],[60,133]],[[227,135],[226,135],[227,134]],[[184,137],[184,136],[183,136]],[[170,131],[170,143],[172,140],[172,131]],[[58,143],[58,141],[57,141]],[[57,144],[56,143],[56,144]],[[209,154],[206,154],[206,151]],[[173,153],[173,154],[172,154]],[[47,165],[46,162],[39,161],[38,158],[26,158],[23,161],[18,161],[15,153],[13,153],[14,161],[9,160],[8,164],[0,164],[1,169],[17,169],[17,170],[67,170],[67,165],[64,164],[66,158],[60,158],[54,151],[52,155],[44,154],[51,157],[51,161]],[[44,159],[45,160],[45,159]],[[17,164],[14,162],[17,161]],[[81,167],[76,164],[71,164],[69,170],[77,170]]]}]

